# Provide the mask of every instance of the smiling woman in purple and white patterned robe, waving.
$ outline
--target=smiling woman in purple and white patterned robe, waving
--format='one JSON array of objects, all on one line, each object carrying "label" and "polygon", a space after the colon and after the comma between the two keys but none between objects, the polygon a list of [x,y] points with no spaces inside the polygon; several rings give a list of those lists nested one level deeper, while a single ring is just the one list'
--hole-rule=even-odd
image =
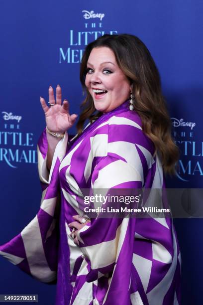
[{"label": "smiling woman in purple and white patterned robe, waving", "polygon": [[77,115],[62,104],[60,86],[56,101],[49,88],[50,108],[40,98],[47,125],[38,144],[41,208],[0,253],[43,282],[57,271],[56,304],[180,304],[171,218],[90,219],[84,212],[84,189],[162,189],[163,169],[174,171],[178,151],[156,65],[137,37],[104,35],[87,46],[80,79],[87,97],[75,138],[67,131]]}]

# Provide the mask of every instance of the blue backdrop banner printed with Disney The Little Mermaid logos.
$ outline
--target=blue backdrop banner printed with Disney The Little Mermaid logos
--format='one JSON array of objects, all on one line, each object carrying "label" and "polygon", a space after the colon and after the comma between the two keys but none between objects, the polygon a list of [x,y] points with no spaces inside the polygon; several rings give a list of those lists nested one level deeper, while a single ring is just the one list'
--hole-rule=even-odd
[{"label": "blue backdrop banner printed with Disney The Little Mermaid logos", "polygon": [[[3,0],[0,5],[0,244],[39,209],[36,145],[45,127],[39,97],[48,101],[49,86],[60,84],[70,112],[79,114],[80,60],[86,45],[105,33],[138,36],[160,71],[181,151],[168,187],[203,188],[201,0]],[[175,226],[183,304],[202,304],[203,219],[176,219]],[[55,286],[0,257],[0,294],[38,295],[39,304],[54,305]]]}]

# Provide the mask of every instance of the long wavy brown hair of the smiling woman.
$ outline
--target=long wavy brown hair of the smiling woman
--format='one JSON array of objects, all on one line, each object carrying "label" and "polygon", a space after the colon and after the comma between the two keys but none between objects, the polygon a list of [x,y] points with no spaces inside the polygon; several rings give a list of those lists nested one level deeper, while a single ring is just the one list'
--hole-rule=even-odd
[{"label": "long wavy brown hair of the smiling woman", "polygon": [[179,149],[171,137],[171,120],[161,91],[161,81],[156,64],[145,46],[136,36],[130,34],[105,34],[89,43],[81,61],[80,80],[86,98],[77,124],[78,135],[82,133],[87,119],[91,122],[102,115],[96,111],[94,101],[85,86],[87,62],[93,48],[110,48],[117,64],[132,85],[133,106],[142,121],[143,132],[152,140],[161,153],[163,169],[166,173],[175,173],[175,163],[179,158]]}]

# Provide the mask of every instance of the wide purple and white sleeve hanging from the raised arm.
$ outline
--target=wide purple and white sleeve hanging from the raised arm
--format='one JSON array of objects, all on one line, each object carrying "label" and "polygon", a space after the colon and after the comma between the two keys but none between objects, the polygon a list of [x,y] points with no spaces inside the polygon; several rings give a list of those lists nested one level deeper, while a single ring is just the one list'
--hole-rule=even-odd
[{"label": "wide purple and white sleeve hanging from the raised arm", "polygon": [[0,255],[21,270],[45,283],[56,279],[58,261],[59,166],[67,150],[65,135],[55,150],[50,173],[46,168],[46,131],[41,135],[38,150],[38,169],[42,185],[40,209],[34,219],[9,242],[0,246]]}]

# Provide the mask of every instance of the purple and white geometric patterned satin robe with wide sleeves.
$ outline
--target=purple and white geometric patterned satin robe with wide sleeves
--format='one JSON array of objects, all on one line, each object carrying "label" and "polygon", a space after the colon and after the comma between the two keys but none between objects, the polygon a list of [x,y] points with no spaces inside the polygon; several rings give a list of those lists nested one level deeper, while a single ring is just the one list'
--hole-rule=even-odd
[{"label": "purple and white geometric patterned satin robe with wide sleeves", "polygon": [[124,102],[75,141],[66,133],[50,172],[46,132],[39,139],[40,210],[0,255],[39,281],[57,279],[56,305],[180,305],[181,256],[171,218],[98,216],[79,231],[80,247],[70,237],[72,216],[84,214],[82,189],[165,188],[159,155],[141,126]]}]

